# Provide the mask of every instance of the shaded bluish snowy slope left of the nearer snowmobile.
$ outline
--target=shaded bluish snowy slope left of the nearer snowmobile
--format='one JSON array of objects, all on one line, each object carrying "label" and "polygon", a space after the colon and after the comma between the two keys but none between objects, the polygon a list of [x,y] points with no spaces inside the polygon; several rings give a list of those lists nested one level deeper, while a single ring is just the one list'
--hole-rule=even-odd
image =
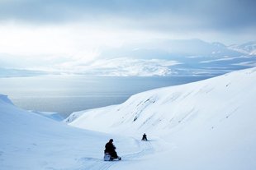
[{"label": "shaded bluish snowy slope left of the nearer snowmobile", "polygon": [[[81,130],[37,113],[17,108],[0,94],[0,169],[100,169],[111,164],[102,161],[104,145],[115,138],[118,147],[126,140],[93,131]],[[140,150],[130,145],[123,152]]]}]

